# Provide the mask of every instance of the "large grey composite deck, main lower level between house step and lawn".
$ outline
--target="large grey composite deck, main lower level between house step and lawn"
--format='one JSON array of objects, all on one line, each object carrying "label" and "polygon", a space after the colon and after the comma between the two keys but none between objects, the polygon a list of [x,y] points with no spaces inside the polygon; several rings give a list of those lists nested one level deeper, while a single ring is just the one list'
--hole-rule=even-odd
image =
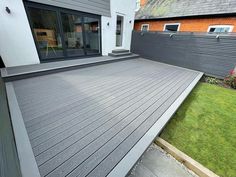
[{"label": "large grey composite deck, main lower level between house step and lawn", "polygon": [[140,58],[8,82],[13,128],[41,176],[125,176],[201,76]]}]

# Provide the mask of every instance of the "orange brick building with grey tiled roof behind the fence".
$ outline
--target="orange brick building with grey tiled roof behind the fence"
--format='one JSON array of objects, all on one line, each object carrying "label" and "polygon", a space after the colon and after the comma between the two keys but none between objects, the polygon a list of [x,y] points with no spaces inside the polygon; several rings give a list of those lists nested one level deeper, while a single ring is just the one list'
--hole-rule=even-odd
[{"label": "orange brick building with grey tiled roof behind the fence", "polygon": [[138,0],[135,30],[236,32],[236,1]]}]

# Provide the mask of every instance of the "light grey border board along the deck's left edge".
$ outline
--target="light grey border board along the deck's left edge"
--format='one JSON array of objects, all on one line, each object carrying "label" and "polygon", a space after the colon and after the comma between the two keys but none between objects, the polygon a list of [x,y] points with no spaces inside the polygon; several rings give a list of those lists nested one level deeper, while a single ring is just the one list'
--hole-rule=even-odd
[{"label": "light grey border board along the deck's left edge", "polygon": [[6,83],[6,92],[22,177],[40,177],[14,86],[11,82]]}]

